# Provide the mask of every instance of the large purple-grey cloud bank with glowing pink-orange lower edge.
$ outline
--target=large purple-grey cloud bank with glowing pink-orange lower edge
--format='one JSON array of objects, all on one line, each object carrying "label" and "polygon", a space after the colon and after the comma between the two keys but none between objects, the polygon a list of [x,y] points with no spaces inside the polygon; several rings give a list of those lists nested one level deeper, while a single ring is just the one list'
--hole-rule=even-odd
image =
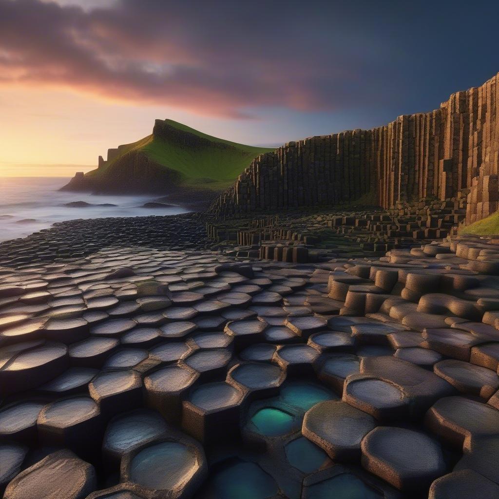
[{"label": "large purple-grey cloud bank with glowing pink-orange lower edge", "polygon": [[326,3],[324,16],[307,15],[301,2],[243,3],[121,0],[83,9],[78,1],[0,0],[0,84],[240,118],[258,106],[358,103],[378,42],[366,45],[338,12],[327,15]]}]

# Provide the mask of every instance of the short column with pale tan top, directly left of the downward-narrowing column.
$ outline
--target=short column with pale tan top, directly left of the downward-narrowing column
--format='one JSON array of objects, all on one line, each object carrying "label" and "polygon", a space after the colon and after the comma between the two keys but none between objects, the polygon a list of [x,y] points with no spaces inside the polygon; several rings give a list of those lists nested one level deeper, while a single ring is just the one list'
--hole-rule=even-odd
[{"label": "short column with pale tan top, directly left of the downward-narrowing column", "polygon": [[104,418],[139,407],[142,402],[142,378],[132,370],[102,372],[88,386]]}]

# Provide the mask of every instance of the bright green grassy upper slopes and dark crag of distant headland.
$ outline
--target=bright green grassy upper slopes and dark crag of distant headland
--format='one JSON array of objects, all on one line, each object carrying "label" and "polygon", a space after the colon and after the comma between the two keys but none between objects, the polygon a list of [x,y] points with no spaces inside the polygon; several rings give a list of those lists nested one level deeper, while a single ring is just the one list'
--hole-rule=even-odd
[{"label": "bright green grassy upper slopes and dark crag of distant headland", "polygon": [[165,169],[179,172],[186,184],[216,189],[232,183],[255,157],[269,151],[273,149],[212,137],[173,120],[156,120],[153,134],[120,146],[118,156],[85,177],[104,180],[120,168],[127,155],[140,153]]}]

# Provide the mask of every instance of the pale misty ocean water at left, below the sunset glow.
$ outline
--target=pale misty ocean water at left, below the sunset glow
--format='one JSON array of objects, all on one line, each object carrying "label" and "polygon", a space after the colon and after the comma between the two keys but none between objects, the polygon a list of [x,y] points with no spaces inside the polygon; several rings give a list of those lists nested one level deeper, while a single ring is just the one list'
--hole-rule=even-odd
[{"label": "pale misty ocean water at left, below the sunset glow", "polygon": [[[94,195],[59,191],[69,180],[54,177],[0,178],[0,241],[22,238],[64,220],[178,215],[188,211],[177,206],[143,208],[144,203],[153,201],[150,195]],[[75,201],[93,206],[64,206]],[[97,206],[100,204],[116,206]]]}]

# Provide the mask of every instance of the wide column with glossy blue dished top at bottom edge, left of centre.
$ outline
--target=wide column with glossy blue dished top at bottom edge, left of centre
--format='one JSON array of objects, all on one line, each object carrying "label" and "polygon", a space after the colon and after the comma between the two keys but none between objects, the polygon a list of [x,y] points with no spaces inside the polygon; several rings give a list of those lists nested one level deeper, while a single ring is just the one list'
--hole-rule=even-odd
[{"label": "wide column with glossy blue dished top at bottom edge, left of centre", "polygon": [[121,481],[157,499],[192,497],[207,474],[203,448],[180,432],[144,444],[121,462]]}]

